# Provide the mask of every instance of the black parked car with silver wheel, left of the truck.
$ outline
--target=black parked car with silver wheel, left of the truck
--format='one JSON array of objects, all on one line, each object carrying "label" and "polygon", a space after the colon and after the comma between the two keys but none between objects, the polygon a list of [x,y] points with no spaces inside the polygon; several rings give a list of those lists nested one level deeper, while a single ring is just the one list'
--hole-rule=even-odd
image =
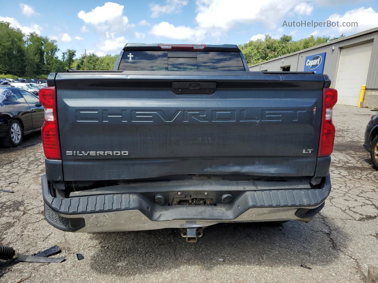
[{"label": "black parked car with silver wheel, left of the truck", "polygon": [[0,86],[0,141],[19,146],[23,135],[39,131],[45,121],[38,97],[19,88]]}]

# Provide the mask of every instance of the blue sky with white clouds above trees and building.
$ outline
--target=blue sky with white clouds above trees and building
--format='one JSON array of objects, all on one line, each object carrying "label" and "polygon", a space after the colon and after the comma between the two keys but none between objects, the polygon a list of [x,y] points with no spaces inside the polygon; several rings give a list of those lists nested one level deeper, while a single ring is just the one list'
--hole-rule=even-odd
[{"label": "blue sky with white clouds above trees and building", "polygon": [[[240,44],[264,34],[294,40],[378,26],[373,0],[37,1],[2,5],[0,21],[56,39],[60,52],[118,54],[127,42]],[[282,27],[283,21],[358,22],[357,27]]]}]

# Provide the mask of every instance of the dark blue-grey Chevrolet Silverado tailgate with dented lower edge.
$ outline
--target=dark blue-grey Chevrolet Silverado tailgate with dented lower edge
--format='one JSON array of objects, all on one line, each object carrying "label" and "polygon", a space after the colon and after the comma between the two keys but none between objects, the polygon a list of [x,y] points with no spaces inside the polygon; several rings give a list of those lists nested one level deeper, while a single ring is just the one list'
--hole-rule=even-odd
[{"label": "dark blue-grey Chevrolet Silverado tailgate with dented lower edge", "polygon": [[54,83],[66,181],[314,175],[322,75],[74,72]]}]

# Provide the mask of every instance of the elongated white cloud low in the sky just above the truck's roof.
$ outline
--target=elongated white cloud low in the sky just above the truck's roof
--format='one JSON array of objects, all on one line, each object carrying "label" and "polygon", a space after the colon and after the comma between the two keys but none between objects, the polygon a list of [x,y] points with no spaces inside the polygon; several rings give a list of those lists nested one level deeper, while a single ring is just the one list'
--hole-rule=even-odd
[{"label": "elongated white cloud low in the sky just above the truck's roof", "polygon": [[188,26],[174,26],[168,22],[161,22],[154,25],[150,30],[150,33],[157,37],[199,42],[205,39],[206,30],[201,28],[190,28]]}]

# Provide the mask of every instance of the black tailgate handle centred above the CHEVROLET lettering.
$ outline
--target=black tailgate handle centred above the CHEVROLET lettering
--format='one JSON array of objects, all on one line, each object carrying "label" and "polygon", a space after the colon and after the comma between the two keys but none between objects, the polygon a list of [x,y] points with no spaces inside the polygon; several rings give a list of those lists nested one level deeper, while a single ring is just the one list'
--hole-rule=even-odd
[{"label": "black tailgate handle centred above the CHEVROLET lettering", "polygon": [[177,95],[212,95],[216,82],[173,82],[172,91]]}]

